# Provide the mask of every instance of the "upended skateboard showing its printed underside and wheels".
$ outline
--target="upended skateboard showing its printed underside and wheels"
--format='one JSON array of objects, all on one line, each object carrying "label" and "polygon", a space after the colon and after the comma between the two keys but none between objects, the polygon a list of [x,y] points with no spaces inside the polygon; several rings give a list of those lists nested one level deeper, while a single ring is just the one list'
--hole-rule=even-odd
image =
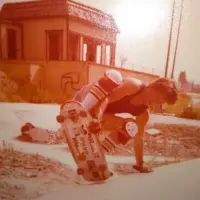
[{"label": "upended skateboard showing its printed underside and wheels", "polygon": [[92,117],[82,104],[76,101],[66,102],[61,106],[56,119],[61,124],[61,130],[77,164],[77,174],[89,182],[109,179],[113,174],[108,169],[97,134],[88,129]]}]

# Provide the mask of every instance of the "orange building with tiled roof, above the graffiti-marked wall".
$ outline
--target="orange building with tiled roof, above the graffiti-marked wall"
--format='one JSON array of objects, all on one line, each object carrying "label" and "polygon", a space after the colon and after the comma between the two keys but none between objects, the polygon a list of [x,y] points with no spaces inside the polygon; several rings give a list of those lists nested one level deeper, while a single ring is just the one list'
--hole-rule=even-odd
[{"label": "orange building with tiled roof, above the graffiti-marked wall", "polygon": [[111,15],[92,7],[71,0],[6,3],[0,23],[3,60],[115,65],[119,30]]}]

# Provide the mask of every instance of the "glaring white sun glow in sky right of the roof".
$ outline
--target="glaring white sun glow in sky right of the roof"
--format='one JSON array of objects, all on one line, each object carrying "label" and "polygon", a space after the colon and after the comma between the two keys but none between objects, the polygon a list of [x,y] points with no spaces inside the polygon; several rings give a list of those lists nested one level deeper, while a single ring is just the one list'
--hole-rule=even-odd
[{"label": "glaring white sun glow in sky right of the roof", "polygon": [[165,12],[158,4],[130,1],[116,5],[115,20],[123,35],[146,37],[153,34],[164,21]]}]

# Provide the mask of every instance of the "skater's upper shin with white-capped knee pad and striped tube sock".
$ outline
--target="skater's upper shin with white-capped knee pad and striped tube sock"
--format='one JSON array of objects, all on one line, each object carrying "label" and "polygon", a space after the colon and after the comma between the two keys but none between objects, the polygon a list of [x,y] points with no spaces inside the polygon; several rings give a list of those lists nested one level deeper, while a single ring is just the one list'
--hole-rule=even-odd
[{"label": "skater's upper shin with white-capped knee pad and striped tube sock", "polygon": [[90,89],[89,93],[83,100],[83,106],[90,111],[100,101],[105,99],[117,86],[122,82],[120,72],[116,70],[107,70]]}]

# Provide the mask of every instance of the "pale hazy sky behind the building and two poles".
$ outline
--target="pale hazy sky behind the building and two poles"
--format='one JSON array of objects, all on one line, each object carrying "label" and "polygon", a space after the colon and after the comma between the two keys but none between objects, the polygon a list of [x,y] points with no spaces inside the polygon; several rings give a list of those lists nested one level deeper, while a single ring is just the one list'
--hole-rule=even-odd
[{"label": "pale hazy sky behind the building and two poles", "polygon": [[[0,0],[5,2],[20,0]],[[113,15],[120,28],[116,65],[126,56],[124,68],[164,76],[173,0],[76,0]],[[181,0],[176,0],[168,76],[171,75]],[[200,83],[200,0],[184,0],[175,78],[186,71]]]}]

